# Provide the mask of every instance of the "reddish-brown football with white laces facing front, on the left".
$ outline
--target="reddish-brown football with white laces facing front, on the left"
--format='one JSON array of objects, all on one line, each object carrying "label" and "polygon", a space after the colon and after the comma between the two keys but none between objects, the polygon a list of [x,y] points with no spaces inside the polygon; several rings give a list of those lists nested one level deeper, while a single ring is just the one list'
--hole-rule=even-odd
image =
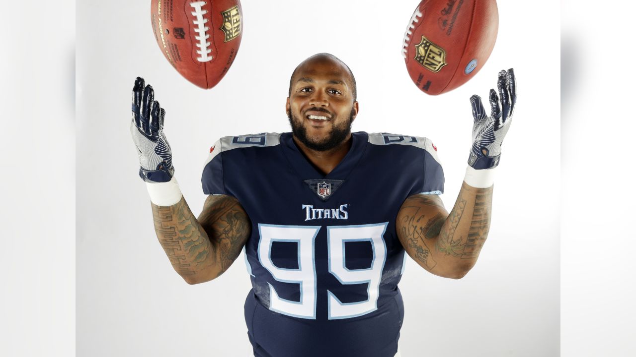
[{"label": "reddish-brown football with white laces facing front, on the left", "polygon": [[209,89],[228,72],[239,51],[243,16],[239,0],[151,0],[155,39],[170,65]]}]

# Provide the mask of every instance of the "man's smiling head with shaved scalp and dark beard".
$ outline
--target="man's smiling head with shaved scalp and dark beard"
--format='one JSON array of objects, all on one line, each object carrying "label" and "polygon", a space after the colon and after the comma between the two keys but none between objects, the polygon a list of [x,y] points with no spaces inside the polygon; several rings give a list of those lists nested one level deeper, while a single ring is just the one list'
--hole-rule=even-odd
[{"label": "man's smiling head with shaved scalp and dark beard", "polygon": [[312,58],[298,67],[287,98],[294,136],[310,149],[327,151],[349,138],[358,104],[347,68],[330,58]]}]

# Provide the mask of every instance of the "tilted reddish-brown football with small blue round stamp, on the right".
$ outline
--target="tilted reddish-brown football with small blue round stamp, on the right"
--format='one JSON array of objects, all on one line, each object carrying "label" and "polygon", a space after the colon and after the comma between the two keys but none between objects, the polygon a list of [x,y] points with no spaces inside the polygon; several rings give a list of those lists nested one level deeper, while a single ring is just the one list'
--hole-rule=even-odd
[{"label": "tilted reddish-brown football with small blue round stamp, on the right", "polygon": [[413,83],[430,95],[466,83],[490,57],[498,28],[495,0],[422,0],[402,45]]}]

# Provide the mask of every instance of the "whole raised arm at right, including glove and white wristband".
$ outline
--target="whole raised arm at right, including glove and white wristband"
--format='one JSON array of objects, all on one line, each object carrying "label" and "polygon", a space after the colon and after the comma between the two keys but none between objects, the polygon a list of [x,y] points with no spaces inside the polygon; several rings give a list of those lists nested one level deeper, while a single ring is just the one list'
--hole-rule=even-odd
[{"label": "whole raised arm at right, including glove and white wristband", "polygon": [[490,229],[493,175],[515,111],[513,69],[499,72],[497,90],[499,95],[491,89],[488,96],[490,116],[481,98],[471,97],[473,146],[462,189],[450,214],[441,199],[432,194],[410,196],[397,214],[397,238],[408,255],[427,271],[445,278],[459,279],[468,273]]}]

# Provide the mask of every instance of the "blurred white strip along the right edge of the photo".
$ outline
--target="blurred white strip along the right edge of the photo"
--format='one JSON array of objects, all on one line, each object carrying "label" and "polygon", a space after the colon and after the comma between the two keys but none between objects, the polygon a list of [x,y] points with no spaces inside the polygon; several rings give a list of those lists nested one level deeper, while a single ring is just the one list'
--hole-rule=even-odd
[{"label": "blurred white strip along the right edge of the photo", "polygon": [[561,2],[563,356],[636,356],[636,4],[615,5]]}]

